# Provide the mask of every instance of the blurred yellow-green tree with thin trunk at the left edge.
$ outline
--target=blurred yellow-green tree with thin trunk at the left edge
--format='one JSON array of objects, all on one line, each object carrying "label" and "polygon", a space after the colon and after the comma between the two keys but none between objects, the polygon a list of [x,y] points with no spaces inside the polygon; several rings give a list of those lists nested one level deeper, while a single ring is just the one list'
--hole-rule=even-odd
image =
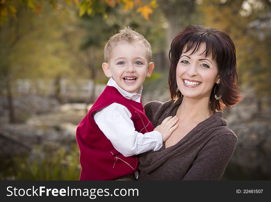
[{"label": "blurred yellow-green tree with thin trunk at the left edge", "polygon": [[[48,8],[43,9],[45,13],[51,13]],[[61,32],[69,28],[68,23],[71,24],[67,16],[58,14],[58,24],[56,15],[37,16],[24,6],[20,7],[17,16],[17,20],[11,18],[9,23],[0,27],[0,78],[4,83],[1,86],[6,89],[12,123],[16,122],[12,89],[18,78],[32,82],[46,77],[57,80],[72,72],[65,52],[66,44],[61,39]],[[60,25],[64,28],[59,29]]]}]

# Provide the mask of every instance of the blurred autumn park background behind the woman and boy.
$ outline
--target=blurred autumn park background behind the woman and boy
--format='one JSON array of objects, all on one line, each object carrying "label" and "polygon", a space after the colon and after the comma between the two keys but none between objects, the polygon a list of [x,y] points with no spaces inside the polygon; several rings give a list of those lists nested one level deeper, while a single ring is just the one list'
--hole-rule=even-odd
[{"label": "blurred autumn park background behind the woman and boy", "polygon": [[143,104],[165,102],[170,43],[191,24],[236,46],[244,97],[224,110],[238,142],[221,180],[271,180],[270,0],[0,0],[0,179],[78,180],[75,132],[108,81],[105,42],[143,34],[155,63]]}]

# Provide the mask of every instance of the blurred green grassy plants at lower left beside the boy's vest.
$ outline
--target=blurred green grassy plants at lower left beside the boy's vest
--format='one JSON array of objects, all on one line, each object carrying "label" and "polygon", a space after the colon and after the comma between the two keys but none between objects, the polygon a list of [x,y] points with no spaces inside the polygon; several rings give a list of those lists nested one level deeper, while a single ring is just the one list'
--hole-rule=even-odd
[{"label": "blurred green grassy plants at lower left beside the boy's vest", "polygon": [[79,180],[81,167],[77,144],[69,151],[64,147],[36,149],[31,156],[13,157],[4,180]]}]

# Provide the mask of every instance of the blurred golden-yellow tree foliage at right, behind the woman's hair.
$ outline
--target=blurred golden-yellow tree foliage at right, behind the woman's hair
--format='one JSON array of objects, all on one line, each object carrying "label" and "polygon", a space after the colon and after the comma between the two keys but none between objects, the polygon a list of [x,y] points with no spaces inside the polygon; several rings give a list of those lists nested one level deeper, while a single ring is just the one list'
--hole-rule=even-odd
[{"label": "blurred golden-yellow tree foliage at right, behind the woman's hair", "polygon": [[240,80],[253,86],[259,103],[271,96],[270,5],[268,0],[205,0],[199,6],[206,26],[223,30],[233,39]]}]

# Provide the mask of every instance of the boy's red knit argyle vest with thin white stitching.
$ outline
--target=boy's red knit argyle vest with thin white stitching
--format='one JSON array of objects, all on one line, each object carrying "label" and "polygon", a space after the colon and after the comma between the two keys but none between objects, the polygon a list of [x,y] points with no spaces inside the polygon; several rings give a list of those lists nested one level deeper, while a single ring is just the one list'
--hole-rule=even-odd
[{"label": "boy's red knit argyle vest with thin white stitching", "polygon": [[136,155],[125,157],[120,154],[92,117],[93,112],[114,102],[124,105],[131,112],[131,120],[136,131],[146,133],[153,130],[141,102],[127,99],[115,87],[107,86],[76,130],[82,167],[80,180],[113,180],[138,169],[138,157]]}]

